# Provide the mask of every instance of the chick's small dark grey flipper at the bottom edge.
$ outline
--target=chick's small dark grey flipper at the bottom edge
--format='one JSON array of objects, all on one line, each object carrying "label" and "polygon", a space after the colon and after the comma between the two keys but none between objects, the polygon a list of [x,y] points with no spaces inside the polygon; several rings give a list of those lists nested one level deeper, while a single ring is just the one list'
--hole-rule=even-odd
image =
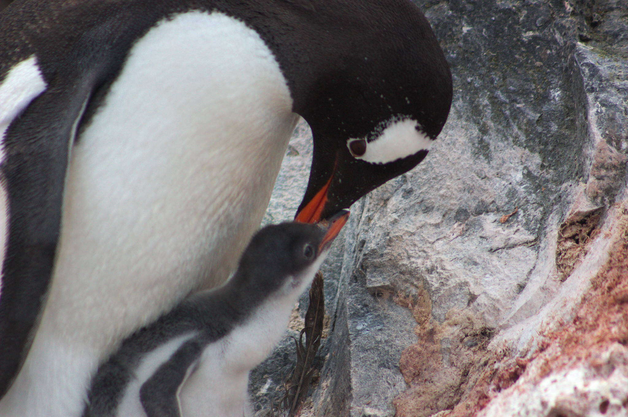
[{"label": "chick's small dark grey flipper at the bottom edge", "polygon": [[139,400],[148,417],[181,417],[179,389],[192,374],[203,353],[196,339],[185,342],[139,389]]}]

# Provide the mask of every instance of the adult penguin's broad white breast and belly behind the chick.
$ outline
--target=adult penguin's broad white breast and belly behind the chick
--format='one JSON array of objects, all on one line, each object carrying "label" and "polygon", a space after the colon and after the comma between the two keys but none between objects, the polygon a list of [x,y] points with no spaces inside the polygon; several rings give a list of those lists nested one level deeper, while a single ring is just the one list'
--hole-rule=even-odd
[{"label": "adult penguin's broad white breast and belly behind the chick", "polygon": [[180,14],[134,44],[72,150],[50,294],[3,415],[74,415],[122,337],[227,277],[268,205],[291,108],[237,19]]}]

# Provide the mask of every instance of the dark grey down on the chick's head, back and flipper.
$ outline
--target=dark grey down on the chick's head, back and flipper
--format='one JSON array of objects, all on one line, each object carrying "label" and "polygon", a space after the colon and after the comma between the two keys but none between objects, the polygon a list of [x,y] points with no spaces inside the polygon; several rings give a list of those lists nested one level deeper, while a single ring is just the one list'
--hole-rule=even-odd
[{"label": "dark grey down on the chick's head, back and flipper", "polygon": [[[318,226],[300,223],[261,229],[242,255],[236,274],[224,286],[189,297],[158,321],[127,338],[119,351],[100,366],[92,381],[84,417],[119,416],[119,403],[144,356],[178,336],[197,332],[139,390],[148,417],[180,417],[178,389],[204,349],[227,336],[269,299],[293,297],[294,300],[281,305],[294,304],[299,294],[286,292],[286,283],[303,274],[321,255],[316,248],[324,234]],[[305,245],[313,249],[311,257],[303,254]],[[285,326],[285,323],[260,323],[263,325]],[[253,342],[260,349],[265,348],[263,339]]]}]

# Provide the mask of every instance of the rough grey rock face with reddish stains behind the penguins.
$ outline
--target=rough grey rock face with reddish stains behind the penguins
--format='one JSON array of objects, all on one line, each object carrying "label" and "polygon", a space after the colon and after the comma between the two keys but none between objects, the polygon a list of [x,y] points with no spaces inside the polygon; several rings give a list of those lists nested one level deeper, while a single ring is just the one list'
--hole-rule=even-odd
[{"label": "rough grey rock face with reddish stains behind the penguins", "polygon": [[[416,3],[452,113],[352,207],[308,415],[628,416],[628,4]],[[295,213],[310,142],[298,126],[269,222]],[[260,415],[293,351],[254,373]]]}]

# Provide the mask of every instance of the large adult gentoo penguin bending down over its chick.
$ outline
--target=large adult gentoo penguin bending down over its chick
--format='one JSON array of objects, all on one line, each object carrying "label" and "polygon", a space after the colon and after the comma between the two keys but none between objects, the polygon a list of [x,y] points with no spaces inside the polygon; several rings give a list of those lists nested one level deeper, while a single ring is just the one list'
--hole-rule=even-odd
[{"label": "large adult gentoo penguin bending down over its chick", "polygon": [[20,0],[0,42],[2,416],[78,416],[124,337],[226,279],[296,115],[316,222],[423,160],[452,98],[409,0]]}]

